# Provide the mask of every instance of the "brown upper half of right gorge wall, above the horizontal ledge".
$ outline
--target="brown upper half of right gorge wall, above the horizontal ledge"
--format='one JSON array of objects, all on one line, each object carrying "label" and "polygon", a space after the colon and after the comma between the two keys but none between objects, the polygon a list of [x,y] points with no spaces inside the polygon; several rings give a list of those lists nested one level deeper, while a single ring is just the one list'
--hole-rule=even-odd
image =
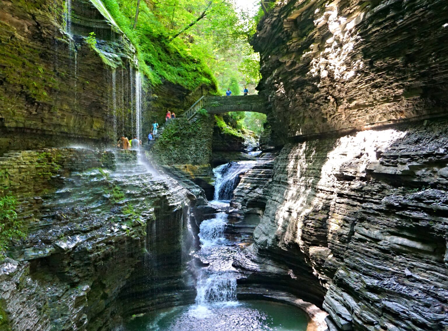
[{"label": "brown upper half of right gorge wall, above the horizontal ledge", "polygon": [[442,115],[447,6],[289,0],[272,9],[253,45],[277,144]]}]

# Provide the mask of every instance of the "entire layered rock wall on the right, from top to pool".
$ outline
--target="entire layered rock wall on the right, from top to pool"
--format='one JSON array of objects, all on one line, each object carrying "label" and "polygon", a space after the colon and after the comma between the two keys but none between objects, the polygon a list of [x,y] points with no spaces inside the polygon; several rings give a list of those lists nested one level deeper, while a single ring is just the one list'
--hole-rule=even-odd
[{"label": "entire layered rock wall on the right, from top to pool", "polygon": [[280,154],[232,202],[259,218],[234,261],[242,292],[292,292],[331,330],[448,328],[447,14],[290,0],[262,19],[258,89]]}]

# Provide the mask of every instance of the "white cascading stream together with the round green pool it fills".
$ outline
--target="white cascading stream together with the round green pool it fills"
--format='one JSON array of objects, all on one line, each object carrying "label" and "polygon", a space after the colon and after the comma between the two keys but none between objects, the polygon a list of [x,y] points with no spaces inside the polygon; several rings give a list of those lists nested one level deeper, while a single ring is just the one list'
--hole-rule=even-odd
[{"label": "white cascading stream together with the round green pool it fills", "polygon": [[129,331],[305,331],[306,314],[292,306],[260,300],[238,301],[239,272],[232,266],[240,251],[239,242],[226,236],[229,201],[239,176],[256,162],[220,165],[215,173],[215,200],[209,202],[217,213],[199,227],[200,249],[194,257],[202,262],[197,275],[194,304],[157,310],[129,321]]}]

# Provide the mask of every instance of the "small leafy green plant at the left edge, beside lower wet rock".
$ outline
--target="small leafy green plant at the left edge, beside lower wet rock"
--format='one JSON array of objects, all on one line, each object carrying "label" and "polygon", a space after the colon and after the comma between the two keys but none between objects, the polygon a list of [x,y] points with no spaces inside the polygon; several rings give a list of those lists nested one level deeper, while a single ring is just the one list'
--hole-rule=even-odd
[{"label": "small leafy green plant at the left edge, beside lower wet rock", "polygon": [[17,205],[17,198],[11,194],[0,198],[0,261],[4,259],[11,241],[26,237],[25,225],[17,219]]}]

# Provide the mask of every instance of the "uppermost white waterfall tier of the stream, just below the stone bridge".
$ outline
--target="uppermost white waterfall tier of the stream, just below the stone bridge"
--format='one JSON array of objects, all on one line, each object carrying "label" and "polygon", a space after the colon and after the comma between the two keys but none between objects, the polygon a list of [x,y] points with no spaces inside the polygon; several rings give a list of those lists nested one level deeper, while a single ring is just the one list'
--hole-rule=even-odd
[{"label": "uppermost white waterfall tier of the stream, just below the stone bridge", "polygon": [[232,199],[233,190],[238,184],[240,174],[253,168],[255,164],[255,161],[230,162],[213,169],[215,174],[214,200],[228,201]]}]

